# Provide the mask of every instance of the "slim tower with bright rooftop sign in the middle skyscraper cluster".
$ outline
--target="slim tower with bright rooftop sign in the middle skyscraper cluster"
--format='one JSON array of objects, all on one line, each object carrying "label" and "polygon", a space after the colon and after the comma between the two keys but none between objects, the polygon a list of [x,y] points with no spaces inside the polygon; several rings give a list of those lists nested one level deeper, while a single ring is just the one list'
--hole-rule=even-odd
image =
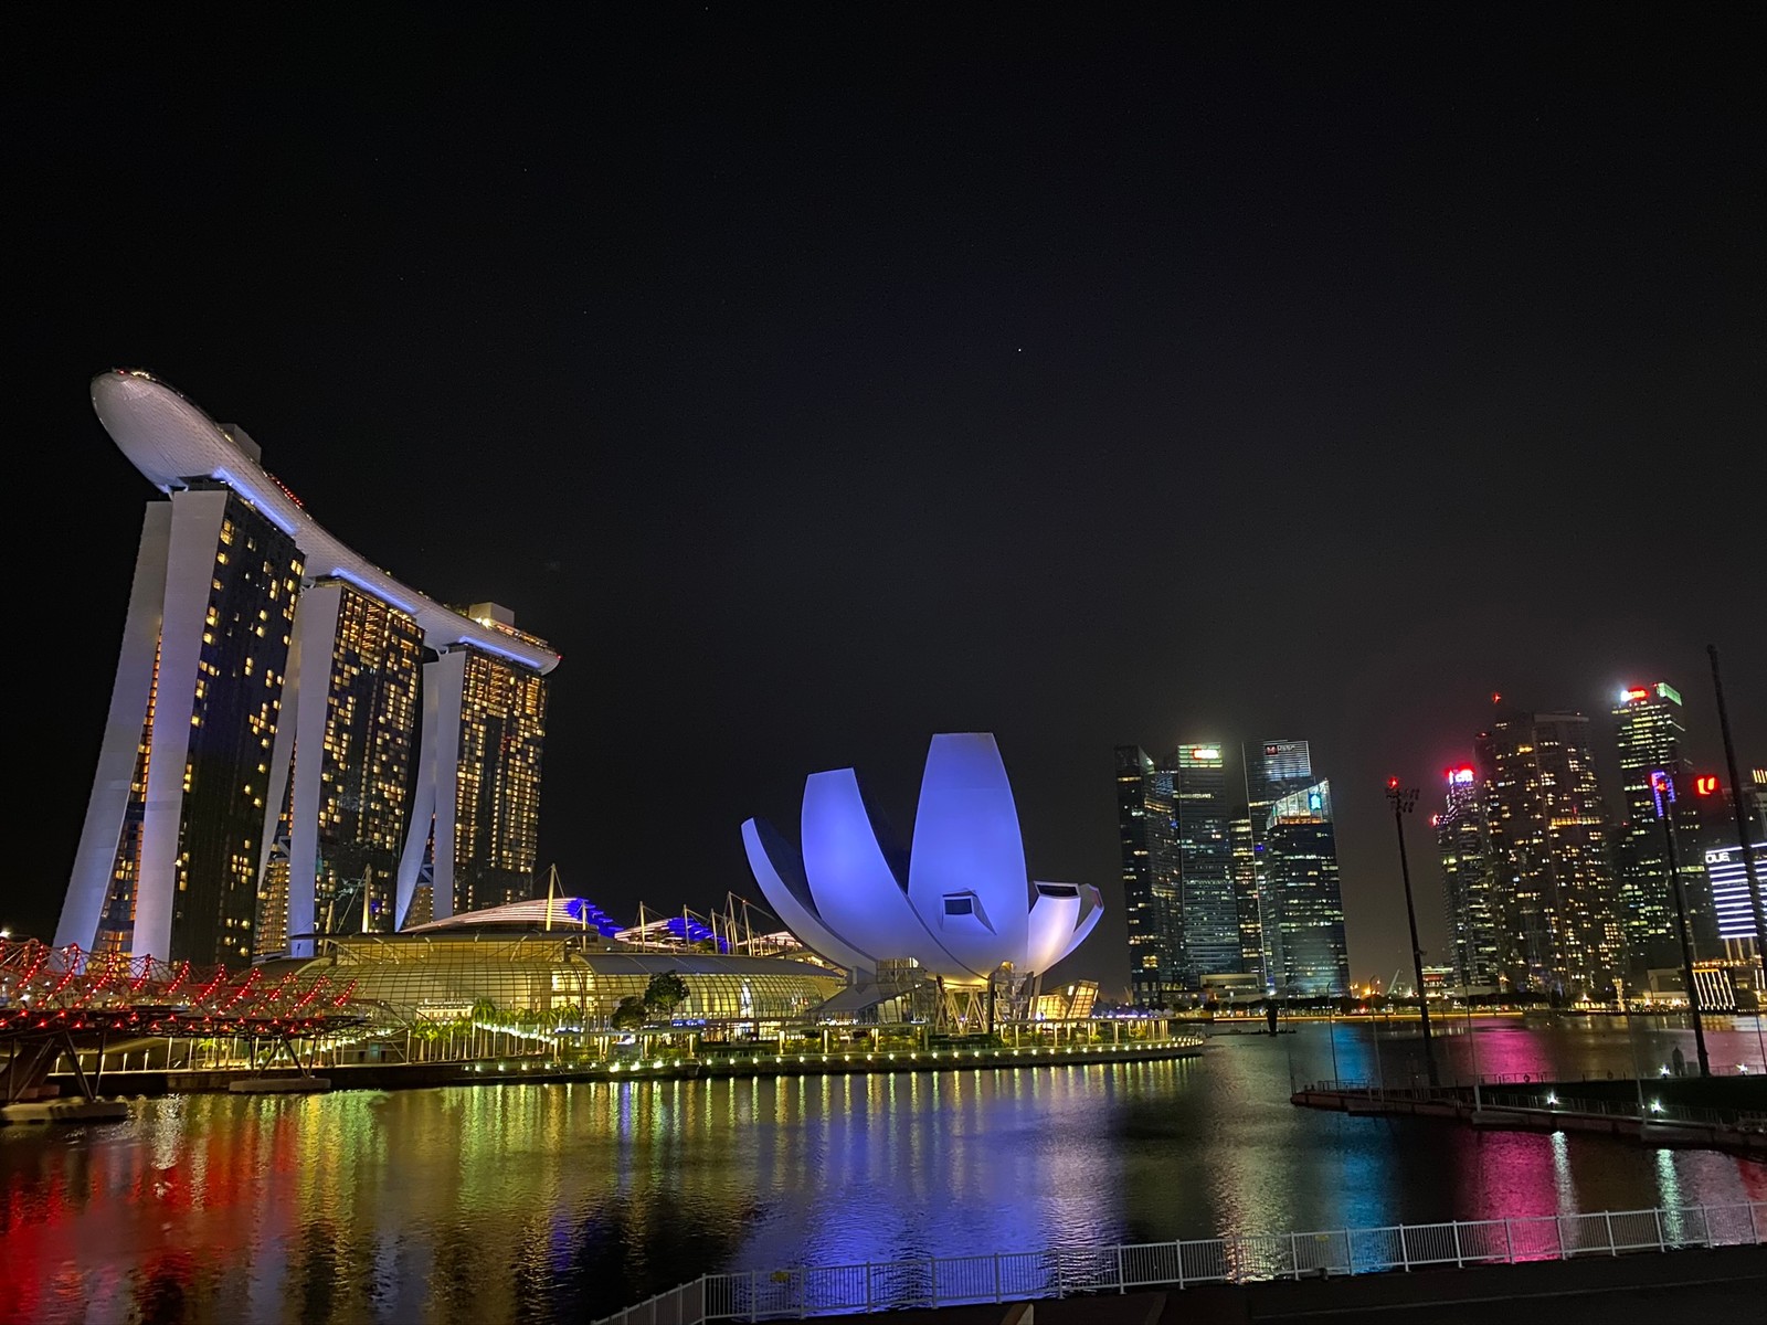
[{"label": "slim tower with bright rooftop sign in the middle skyscraper cluster", "polygon": [[1217,742],[1179,746],[1173,758],[1173,832],[1179,846],[1180,972],[1186,988],[1205,975],[1244,970],[1233,843],[1228,823],[1226,758]]}]

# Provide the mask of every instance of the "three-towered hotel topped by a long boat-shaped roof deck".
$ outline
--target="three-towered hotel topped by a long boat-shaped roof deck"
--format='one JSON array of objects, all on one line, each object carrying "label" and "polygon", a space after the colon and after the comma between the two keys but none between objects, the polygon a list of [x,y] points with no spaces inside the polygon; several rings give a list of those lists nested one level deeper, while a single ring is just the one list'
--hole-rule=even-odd
[{"label": "three-towered hotel topped by a long boat-shaped roof deck", "polygon": [[240,965],[527,897],[558,654],[352,551],[145,373],[92,380],[141,525],[57,943]]}]

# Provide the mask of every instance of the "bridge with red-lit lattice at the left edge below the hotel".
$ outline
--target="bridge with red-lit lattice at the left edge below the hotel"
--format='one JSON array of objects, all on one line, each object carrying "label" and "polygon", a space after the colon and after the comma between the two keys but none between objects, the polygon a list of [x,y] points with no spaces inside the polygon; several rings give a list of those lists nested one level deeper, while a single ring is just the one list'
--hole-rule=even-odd
[{"label": "bridge with red-lit lattice at the left edge below the hotel", "polygon": [[[254,1058],[286,1055],[306,1074],[297,1041],[369,1021],[369,1009],[352,1003],[353,991],[353,980],[302,979],[299,966],[277,975],[0,940],[0,1102],[55,1094],[46,1078],[64,1055],[80,1094],[94,1101],[106,1049],[131,1044],[164,1046],[170,1067],[177,1042],[249,1041]],[[81,1071],[83,1049],[97,1049],[97,1072]]]}]

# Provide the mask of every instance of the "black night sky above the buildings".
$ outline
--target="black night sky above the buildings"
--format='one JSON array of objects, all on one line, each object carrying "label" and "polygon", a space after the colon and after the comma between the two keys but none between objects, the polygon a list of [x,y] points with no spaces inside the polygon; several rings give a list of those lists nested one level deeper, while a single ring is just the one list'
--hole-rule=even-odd
[{"label": "black night sky above the buildings", "polygon": [[912,822],[928,737],[991,730],[1110,989],[1111,747],[1304,737],[1387,977],[1384,779],[1433,791],[1493,689],[1606,744],[1668,678],[1712,761],[1716,643],[1767,758],[1733,11],[219,12],[5,19],[0,920],[53,926],[90,788],[118,364],[562,648],[541,862],[613,912],[753,894],[737,825],[816,768]]}]

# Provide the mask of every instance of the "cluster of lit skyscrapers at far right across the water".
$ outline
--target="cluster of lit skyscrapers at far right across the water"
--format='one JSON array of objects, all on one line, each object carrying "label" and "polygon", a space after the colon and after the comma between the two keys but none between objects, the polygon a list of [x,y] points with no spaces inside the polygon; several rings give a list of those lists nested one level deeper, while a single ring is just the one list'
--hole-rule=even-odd
[{"label": "cluster of lit skyscrapers at far right across the water", "polygon": [[[1742,786],[1698,770],[1665,680],[1622,687],[1606,730],[1491,701],[1474,760],[1444,768],[1430,816],[1452,986],[1599,1003],[1703,979],[1702,1000],[1733,1007],[1732,977],[1755,986],[1760,966],[1739,834],[1762,837],[1767,768],[1737,768]],[[1617,783],[1596,768],[1604,742]]]}]

